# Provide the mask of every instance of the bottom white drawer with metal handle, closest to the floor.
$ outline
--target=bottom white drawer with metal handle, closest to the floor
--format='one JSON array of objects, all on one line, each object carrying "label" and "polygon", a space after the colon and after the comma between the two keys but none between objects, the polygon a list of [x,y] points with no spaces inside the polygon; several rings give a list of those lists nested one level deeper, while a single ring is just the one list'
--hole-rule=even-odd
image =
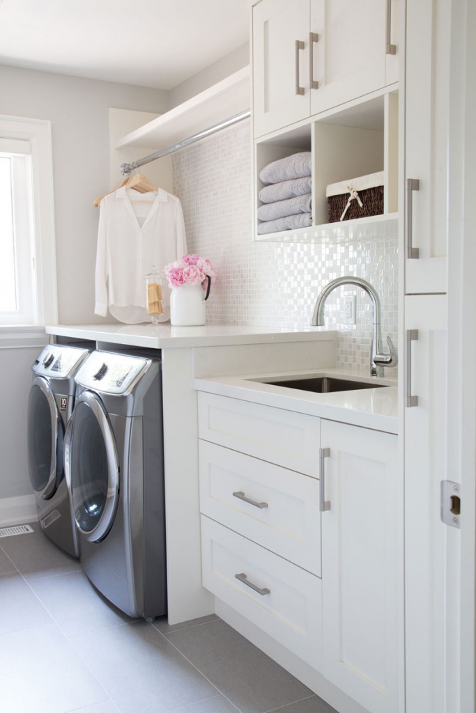
[{"label": "bottom white drawer with metal handle, closest to the floor", "polygon": [[[320,669],[320,579],[205,515],[201,521],[203,586],[295,655]],[[261,593],[236,575],[245,577]]]}]

